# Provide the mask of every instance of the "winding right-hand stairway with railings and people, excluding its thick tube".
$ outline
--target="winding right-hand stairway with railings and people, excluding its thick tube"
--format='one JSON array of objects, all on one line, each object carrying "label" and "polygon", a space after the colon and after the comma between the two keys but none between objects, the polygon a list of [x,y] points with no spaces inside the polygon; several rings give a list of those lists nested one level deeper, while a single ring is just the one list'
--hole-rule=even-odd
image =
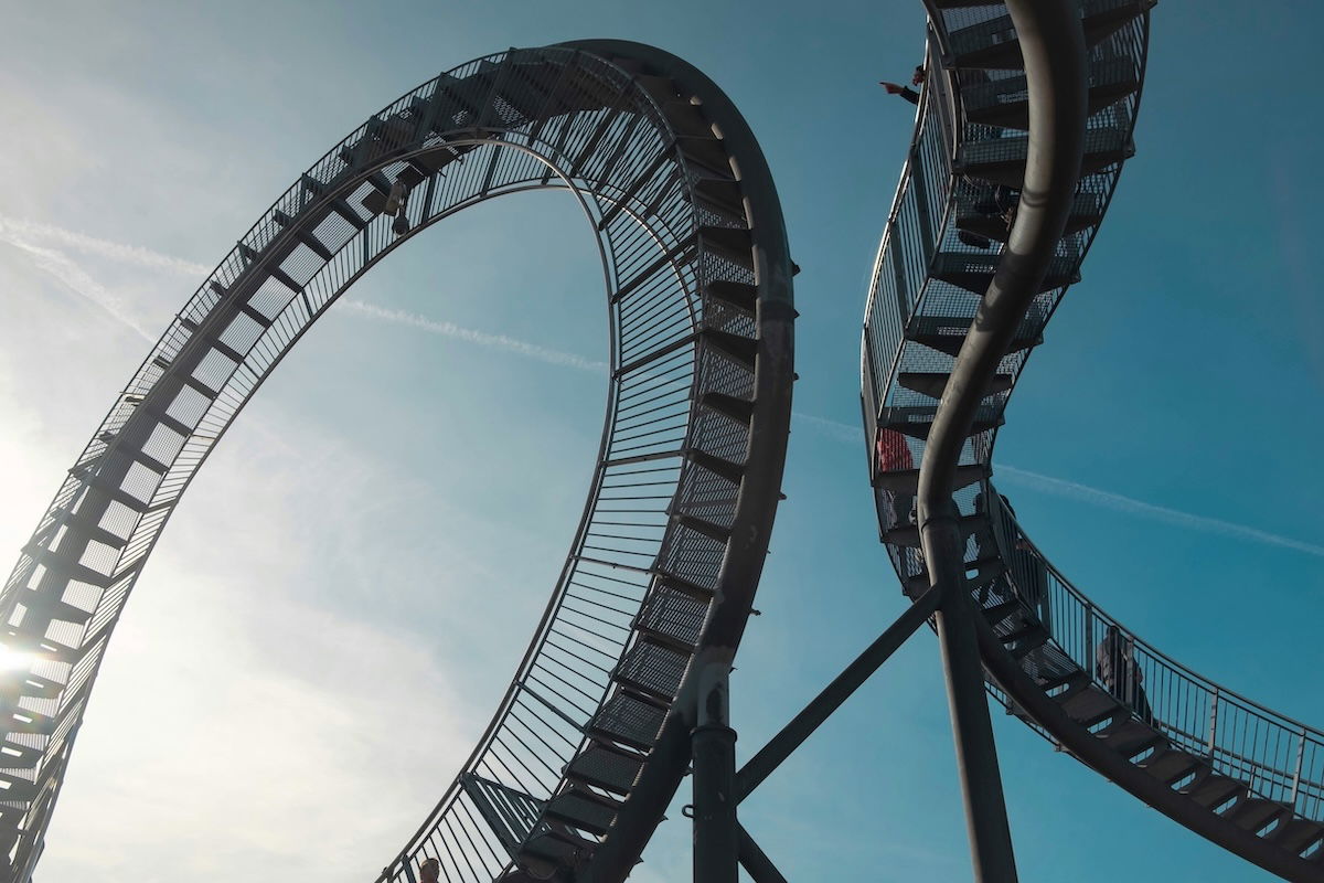
[{"label": "winding right-hand stairway with railings and people, excluding its thick tube", "polygon": [[[1324,879],[1324,733],[1201,678],[1103,613],[1029,540],[992,485],[1026,360],[1133,152],[1152,0],[1076,0],[1088,46],[1080,177],[1041,291],[989,379],[957,466],[965,579],[989,692],[1128,792],[1294,880]],[[880,539],[910,597],[929,588],[915,524],[939,400],[998,269],[1030,147],[1017,33],[997,1],[927,0],[915,135],[874,265],[862,408]]]}]

